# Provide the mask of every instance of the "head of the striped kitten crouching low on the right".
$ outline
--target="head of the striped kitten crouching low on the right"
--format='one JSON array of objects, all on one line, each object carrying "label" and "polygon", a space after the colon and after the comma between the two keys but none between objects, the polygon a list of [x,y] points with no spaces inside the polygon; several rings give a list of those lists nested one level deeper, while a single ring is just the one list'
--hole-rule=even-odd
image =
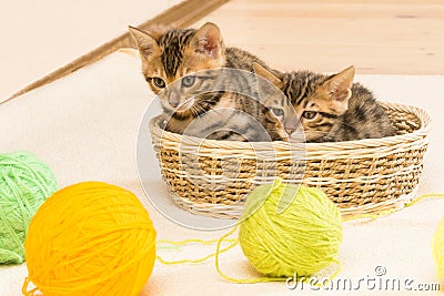
[{"label": "head of the striped kitten crouching low on the right", "polygon": [[[281,120],[290,141],[294,139],[294,133],[302,131],[306,142],[325,136],[349,108],[354,67],[330,76],[303,71],[278,78],[269,71],[266,74],[259,72],[279,86],[294,106],[296,119]],[[274,78],[270,79],[270,75]]]}]

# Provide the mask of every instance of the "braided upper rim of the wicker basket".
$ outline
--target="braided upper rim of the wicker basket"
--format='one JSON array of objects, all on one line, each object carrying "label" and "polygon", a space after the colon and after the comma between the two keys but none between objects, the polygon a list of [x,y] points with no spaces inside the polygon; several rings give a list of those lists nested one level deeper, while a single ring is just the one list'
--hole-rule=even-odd
[{"label": "braided upper rim of the wicker basket", "polygon": [[[317,153],[327,153],[331,151],[350,151],[350,150],[359,150],[359,149],[374,149],[381,146],[393,146],[396,144],[405,144],[406,142],[411,142],[414,140],[426,139],[426,135],[430,131],[431,119],[427,112],[423,109],[414,106],[414,105],[404,105],[400,103],[390,103],[390,102],[379,102],[385,109],[390,109],[392,111],[400,111],[405,113],[414,114],[421,121],[421,127],[415,130],[414,132],[402,134],[402,135],[393,135],[380,139],[363,139],[363,140],[354,140],[354,141],[344,141],[344,142],[325,142],[325,143],[289,143],[285,141],[273,141],[273,142],[238,142],[238,141],[221,141],[221,140],[208,140],[208,139],[199,139],[191,135],[176,134],[169,131],[165,131],[160,127],[159,123],[163,119],[163,115],[160,114],[150,120],[150,131],[152,134],[160,136],[162,140],[169,140],[174,143],[181,143],[181,146],[200,146],[201,149],[225,149],[231,152],[235,151],[251,151],[254,147],[255,151],[269,151],[273,149],[275,151],[301,151],[304,150],[305,153],[310,154],[310,152]],[[162,141],[163,143],[165,141]],[[162,143],[162,144],[163,144]],[[167,145],[168,146],[168,145]]]}]

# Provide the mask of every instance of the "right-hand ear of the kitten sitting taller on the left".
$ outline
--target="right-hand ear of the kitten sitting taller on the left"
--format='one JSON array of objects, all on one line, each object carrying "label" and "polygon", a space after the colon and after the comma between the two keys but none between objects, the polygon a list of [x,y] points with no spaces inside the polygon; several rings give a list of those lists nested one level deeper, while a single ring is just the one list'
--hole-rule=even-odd
[{"label": "right-hand ear of the kitten sitting taller on the left", "polygon": [[216,59],[220,58],[225,47],[219,27],[212,22],[203,24],[190,42],[195,53]]}]

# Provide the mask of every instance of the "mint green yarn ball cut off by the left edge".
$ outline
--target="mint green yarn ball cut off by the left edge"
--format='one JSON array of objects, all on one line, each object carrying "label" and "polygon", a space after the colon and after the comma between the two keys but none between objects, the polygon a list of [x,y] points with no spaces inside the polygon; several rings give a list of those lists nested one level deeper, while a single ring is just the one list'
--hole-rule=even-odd
[{"label": "mint green yarn ball cut off by the left edge", "polygon": [[0,154],[0,264],[24,261],[29,223],[56,190],[54,175],[36,155]]}]

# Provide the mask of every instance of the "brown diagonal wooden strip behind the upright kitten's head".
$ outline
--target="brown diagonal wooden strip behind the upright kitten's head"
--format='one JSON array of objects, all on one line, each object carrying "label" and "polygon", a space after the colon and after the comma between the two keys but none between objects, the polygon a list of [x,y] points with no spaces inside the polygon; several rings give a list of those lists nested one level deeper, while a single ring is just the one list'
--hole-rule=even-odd
[{"label": "brown diagonal wooden strip behind the upright kitten's head", "polygon": [[[139,28],[148,29],[152,25],[165,25],[175,28],[189,27],[203,16],[206,16],[208,13],[215,10],[216,8],[219,8],[220,6],[224,4],[228,1],[229,0],[206,0],[206,1],[185,0],[165,10],[163,13],[157,16],[155,18],[140,24]],[[24,89],[12,94],[6,101],[0,102],[0,104],[3,104],[12,100],[20,94],[40,88],[60,78],[63,78],[88,64],[99,61],[100,59],[107,57],[108,54],[124,47],[133,47],[129,33],[124,33],[122,35],[117,37],[115,39],[100,45],[99,48],[92,50],[91,52],[75,59],[74,61],[68,63],[67,65],[43,76],[42,79],[27,85]]]}]

